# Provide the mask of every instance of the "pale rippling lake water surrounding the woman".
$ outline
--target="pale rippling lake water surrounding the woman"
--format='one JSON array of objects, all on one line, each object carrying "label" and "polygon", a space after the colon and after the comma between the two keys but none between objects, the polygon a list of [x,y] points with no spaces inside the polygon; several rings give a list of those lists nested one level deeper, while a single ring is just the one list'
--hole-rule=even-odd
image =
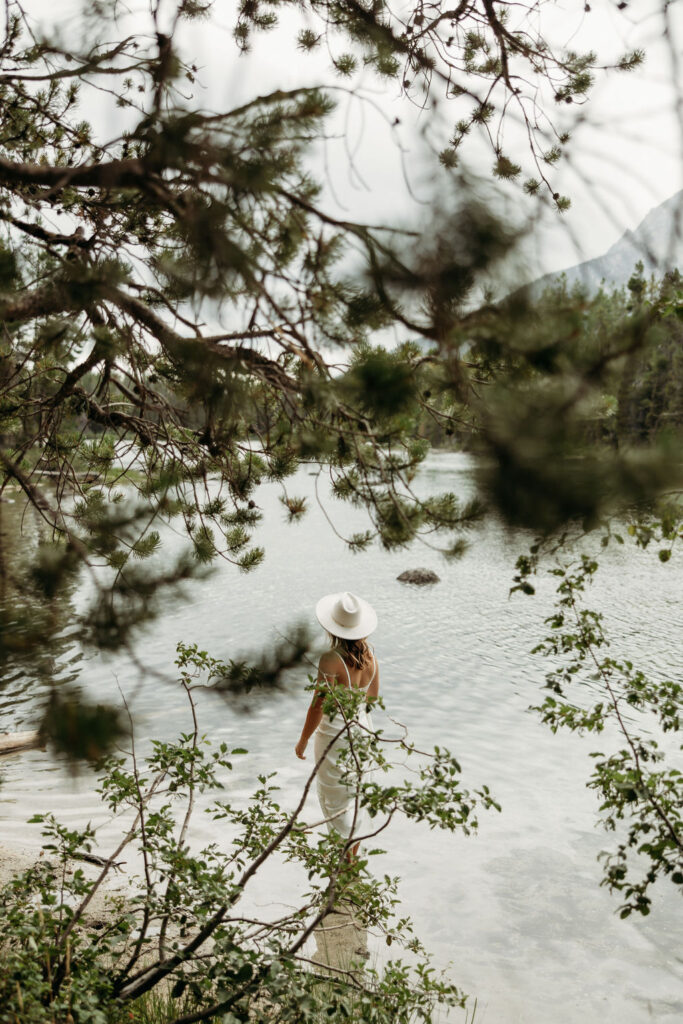
[{"label": "pale rippling lake water surrounding the woman", "polygon": [[[466,498],[473,473],[467,456],[432,455],[420,485]],[[616,899],[599,888],[596,857],[613,838],[596,829],[597,801],[585,782],[589,752],[606,749],[609,739],[553,736],[527,711],[539,701],[546,668],[529,650],[544,635],[553,597],[550,581],[535,598],[508,596],[515,558],[527,540],[488,520],[455,562],[420,544],[353,555],[315,504],[306,468],[288,481],[288,490],[309,496],[309,512],[289,524],[278,488],[261,488],[263,566],[243,577],[221,565],[210,580],[188,587],[187,600],[169,604],[138,645],[140,658],[171,676],[177,640],[234,657],[286,635],[297,621],[313,626],[312,608],[324,593],[348,589],[366,596],[379,613],[374,639],[388,713],[409,726],[418,744],[450,748],[464,783],[487,783],[503,807],[500,815],[482,814],[471,838],[396,821],[383,837],[386,854],[372,862],[375,871],[400,874],[402,911],[413,916],[437,965],[450,966],[453,979],[477,998],[475,1024],[680,1024],[683,954],[675,887],[660,887],[648,919],[626,922],[614,913]],[[325,504],[341,532],[358,528],[360,513]],[[680,557],[661,565],[653,552],[610,546],[590,595],[591,606],[605,612],[614,650],[673,678],[680,678],[683,654]],[[415,566],[435,569],[441,582],[425,589],[396,582],[402,569]],[[187,726],[172,682],[141,681],[124,657],[87,659],[81,682],[108,699],[117,699],[120,685],[140,737],[171,737]],[[259,772],[276,771],[283,803],[296,802],[309,764],[293,752],[305,684],[301,672],[285,692],[254,696],[246,714],[203,698],[201,720],[210,737],[250,752],[230,780],[233,800],[248,799]],[[2,703],[0,731],[29,727],[33,702],[23,700],[18,688],[6,689]],[[377,716],[376,723],[384,724]],[[115,826],[87,773],[74,779],[40,752],[5,758],[1,769],[4,843],[31,842],[36,828],[25,819],[54,809],[67,821],[100,823],[106,848]],[[316,813],[312,799],[308,811]],[[219,841],[220,831],[199,815],[196,841],[209,839]],[[299,883],[292,868],[273,865],[256,880],[250,899],[261,908],[291,904]],[[371,949],[373,941],[371,936]],[[374,952],[381,958],[386,950],[377,946]]]}]

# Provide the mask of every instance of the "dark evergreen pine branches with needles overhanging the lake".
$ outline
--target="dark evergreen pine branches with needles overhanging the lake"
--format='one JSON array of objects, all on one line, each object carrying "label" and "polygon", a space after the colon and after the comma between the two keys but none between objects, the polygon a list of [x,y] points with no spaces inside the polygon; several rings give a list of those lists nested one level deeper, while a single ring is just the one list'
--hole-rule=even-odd
[{"label": "dark evergreen pine branches with needles overhanging the lake", "polygon": [[[293,45],[325,41],[339,74],[365,67],[425,102],[445,88],[457,127],[431,218],[397,229],[329,211],[310,154],[333,88],[204,110],[182,27],[210,16],[211,4],[154,4],[147,35],[137,23],[126,34],[118,5],[91,5],[85,42],[69,46],[7,4],[0,490],[17,486],[43,523],[32,567],[2,563],[8,664],[17,633],[27,665],[31,651],[58,643],[65,595],[84,572],[93,599],[70,634],[116,649],[131,646],[163,595],[215,559],[256,568],[255,488],[284,483],[302,461],[325,467],[333,494],[369,511],[351,550],[374,540],[392,549],[427,531],[458,554],[481,503],[417,498],[425,420],[446,436],[467,431],[494,457],[484,490],[513,522],[552,528],[590,516],[614,493],[656,489],[670,470],[659,459],[647,472],[628,460],[567,472],[586,387],[640,345],[649,314],[626,340],[584,353],[567,336],[581,315],[573,300],[548,323],[523,299],[473,308],[482,275],[515,240],[469,196],[456,153],[480,131],[496,176],[516,180],[530,159],[539,184],[527,180],[526,190],[552,193],[567,139],[548,112],[588,94],[595,54],[554,50],[530,9],[487,0],[402,14],[355,0],[286,6],[309,19]],[[284,10],[241,4],[238,48]],[[93,94],[116,97],[125,115],[117,137],[84,120]],[[515,160],[497,141],[508,108],[528,128],[529,151]],[[305,513],[285,489],[283,501],[291,518]],[[168,521],[188,542],[175,560],[162,545]],[[29,605],[42,610],[28,614]]]}]

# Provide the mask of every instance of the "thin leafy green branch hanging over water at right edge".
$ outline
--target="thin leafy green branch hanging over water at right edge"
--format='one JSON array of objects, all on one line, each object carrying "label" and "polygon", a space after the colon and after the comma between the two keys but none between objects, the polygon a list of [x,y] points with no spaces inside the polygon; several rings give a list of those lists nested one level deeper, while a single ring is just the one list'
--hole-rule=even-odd
[{"label": "thin leafy green branch hanging over water at right edge", "polygon": [[[517,570],[514,589],[527,593],[536,556],[522,556]],[[675,749],[661,750],[668,733],[681,731],[683,686],[650,680],[632,662],[606,653],[603,615],[582,606],[597,570],[587,555],[549,570],[558,580],[556,609],[546,620],[551,632],[533,652],[554,664],[546,674],[550,693],[532,710],[553,732],[598,734],[611,724],[621,737],[618,750],[591,754],[595,766],[587,784],[600,801],[603,827],[618,838],[613,851],[600,855],[602,885],[620,893],[626,918],[634,910],[649,913],[657,879],[683,889],[683,771]],[[659,738],[652,738],[648,733],[657,729]]]}]

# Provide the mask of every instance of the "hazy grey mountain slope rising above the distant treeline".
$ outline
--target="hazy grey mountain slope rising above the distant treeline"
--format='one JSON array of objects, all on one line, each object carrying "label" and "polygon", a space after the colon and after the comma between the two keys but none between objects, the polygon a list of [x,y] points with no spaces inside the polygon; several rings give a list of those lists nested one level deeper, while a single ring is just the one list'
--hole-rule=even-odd
[{"label": "hazy grey mountain slope rising above the distant treeline", "polygon": [[650,210],[635,230],[625,231],[603,256],[544,274],[529,287],[533,295],[540,295],[562,273],[569,288],[580,284],[597,292],[603,281],[618,287],[626,285],[638,260],[646,275],[683,266],[683,189]]}]

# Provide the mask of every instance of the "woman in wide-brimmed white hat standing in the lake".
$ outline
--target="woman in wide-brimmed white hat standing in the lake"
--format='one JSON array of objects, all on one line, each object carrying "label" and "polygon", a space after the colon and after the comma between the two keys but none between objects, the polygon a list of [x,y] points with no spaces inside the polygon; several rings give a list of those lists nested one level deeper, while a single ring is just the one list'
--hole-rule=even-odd
[{"label": "woman in wide-brimmed white hat standing in the lake", "polygon": [[[315,615],[330,635],[332,644],[331,649],[321,657],[316,683],[326,683],[328,687],[345,686],[365,690],[368,698],[374,700],[380,689],[380,673],[368,644],[368,637],[377,628],[375,609],[367,601],[346,591],[321,598],[315,606]],[[332,737],[339,732],[344,722],[340,715],[331,720],[323,713],[324,699],[325,693],[321,692],[318,686],[313,693],[295,752],[298,758],[305,761],[306,745],[315,733],[315,763],[323,759],[316,775],[321,810],[328,828],[334,828],[344,839],[348,839],[352,835],[357,836],[360,830],[356,794],[342,780],[342,768],[337,764],[339,749],[348,745],[349,736],[344,730],[330,746]],[[372,728],[365,705],[357,712],[354,722]],[[351,848],[353,856],[357,853],[358,846],[355,843]]]}]

